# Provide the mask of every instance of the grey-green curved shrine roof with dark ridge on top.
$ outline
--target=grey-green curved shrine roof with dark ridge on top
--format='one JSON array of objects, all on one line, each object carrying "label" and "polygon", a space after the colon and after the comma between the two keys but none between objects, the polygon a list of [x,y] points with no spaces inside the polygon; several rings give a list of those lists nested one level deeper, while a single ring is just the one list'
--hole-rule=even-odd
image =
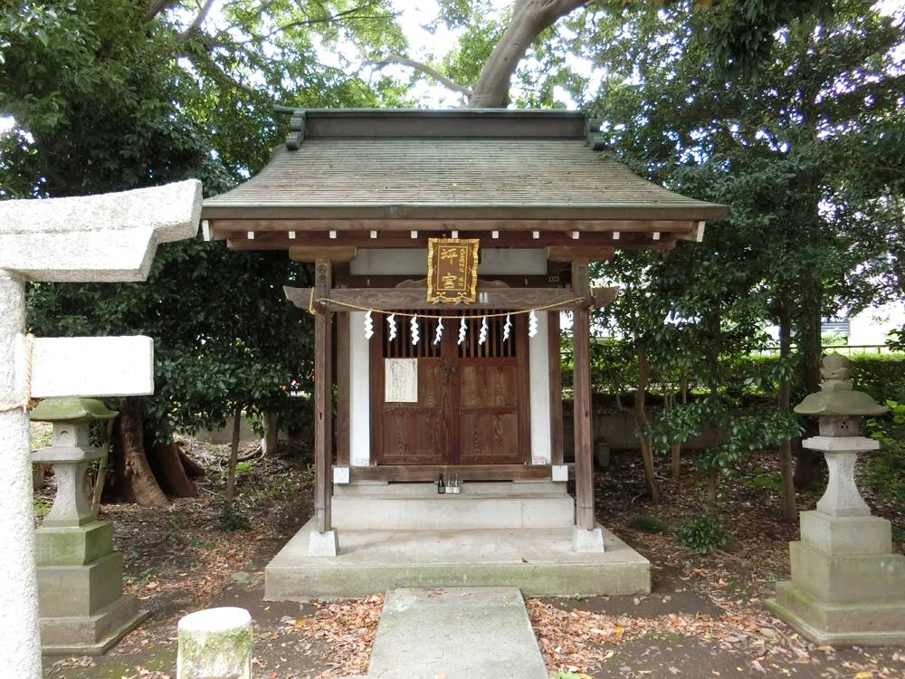
[{"label": "grey-green curved shrine roof with dark ridge on top", "polygon": [[297,110],[292,127],[261,172],[205,200],[204,218],[696,221],[728,212],[638,177],[571,111]]}]

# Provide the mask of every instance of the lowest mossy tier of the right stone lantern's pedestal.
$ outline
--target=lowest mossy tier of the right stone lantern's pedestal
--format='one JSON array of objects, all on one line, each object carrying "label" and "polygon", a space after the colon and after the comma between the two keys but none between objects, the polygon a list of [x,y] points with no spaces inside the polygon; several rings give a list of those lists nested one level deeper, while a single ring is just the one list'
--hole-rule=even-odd
[{"label": "lowest mossy tier of the right stone lantern's pedestal", "polygon": [[905,601],[831,605],[780,582],[765,603],[815,644],[905,646]]}]

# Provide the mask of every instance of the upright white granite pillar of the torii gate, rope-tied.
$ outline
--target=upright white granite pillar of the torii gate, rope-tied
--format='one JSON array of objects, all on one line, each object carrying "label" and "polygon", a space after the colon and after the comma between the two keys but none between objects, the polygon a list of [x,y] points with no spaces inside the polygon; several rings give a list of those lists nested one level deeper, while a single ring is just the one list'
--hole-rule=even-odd
[{"label": "upright white granite pillar of the torii gate, rope-tied", "polygon": [[41,676],[38,580],[34,569],[32,456],[28,413],[6,408],[24,397],[25,282],[0,269],[0,666],[15,677]]}]

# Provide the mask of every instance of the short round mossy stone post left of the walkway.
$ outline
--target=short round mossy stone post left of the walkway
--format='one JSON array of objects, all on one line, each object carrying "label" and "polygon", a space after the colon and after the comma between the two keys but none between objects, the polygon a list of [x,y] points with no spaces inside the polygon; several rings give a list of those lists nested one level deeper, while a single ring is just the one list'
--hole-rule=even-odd
[{"label": "short round mossy stone post left of the walkway", "polygon": [[179,620],[176,679],[252,679],[252,617],[207,608]]}]

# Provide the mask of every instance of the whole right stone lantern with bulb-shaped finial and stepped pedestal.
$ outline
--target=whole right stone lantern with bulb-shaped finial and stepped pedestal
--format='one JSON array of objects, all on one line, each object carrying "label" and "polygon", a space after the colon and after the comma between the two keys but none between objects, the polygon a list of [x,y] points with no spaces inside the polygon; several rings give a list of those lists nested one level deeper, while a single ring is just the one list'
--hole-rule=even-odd
[{"label": "whole right stone lantern with bulb-shaped finial and stepped pedestal", "polygon": [[834,646],[905,643],[905,557],[892,553],[891,523],[871,516],[854,479],[858,453],[880,442],[862,436],[862,416],[889,408],[848,381],[848,359],[831,354],[821,391],[798,406],[817,416],[820,435],[802,445],[823,451],[829,481],[815,512],[801,512],[801,541],[790,542],[792,579],[767,606],[804,636]]}]

